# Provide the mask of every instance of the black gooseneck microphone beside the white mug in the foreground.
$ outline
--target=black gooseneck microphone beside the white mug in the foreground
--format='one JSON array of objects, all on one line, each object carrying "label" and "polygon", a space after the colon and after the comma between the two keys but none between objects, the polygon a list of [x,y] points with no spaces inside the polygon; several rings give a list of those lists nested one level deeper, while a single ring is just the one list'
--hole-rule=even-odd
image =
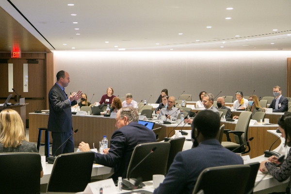
[{"label": "black gooseneck microphone beside the white mug in the foreground", "polygon": [[140,161],[138,162],[130,171],[128,174],[128,178],[124,178],[122,179],[122,188],[125,190],[132,190],[132,189],[138,189],[138,188],[142,188],[143,186],[146,186],[143,182],[141,178],[130,178],[130,175],[132,173],[132,171],[139,166],[144,160],[146,160],[146,158],[153,153],[155,150],[157,149],[157,147],[154,147],[150,150],[150,152]]}]

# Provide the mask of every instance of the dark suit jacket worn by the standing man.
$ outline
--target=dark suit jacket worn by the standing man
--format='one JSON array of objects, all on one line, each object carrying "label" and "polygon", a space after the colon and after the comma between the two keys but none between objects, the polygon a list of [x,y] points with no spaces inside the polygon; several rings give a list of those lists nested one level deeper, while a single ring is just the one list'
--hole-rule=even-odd
[{"label": "dark suit jacket worn by the standing man", "polygon": [[71,103],[66,99],[58,84],[49,90],[48,130],[52,132],[69,132],[72,130]]}]

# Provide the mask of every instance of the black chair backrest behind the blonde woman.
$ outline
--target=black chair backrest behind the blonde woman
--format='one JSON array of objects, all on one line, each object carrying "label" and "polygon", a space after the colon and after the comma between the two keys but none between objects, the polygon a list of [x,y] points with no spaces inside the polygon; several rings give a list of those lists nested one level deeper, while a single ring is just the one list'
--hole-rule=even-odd
[{"label": "black chair backrest behind the blonde woman", "polygon": [[38,153],[0,153],[0,193],[40,193],[40,160]]}]

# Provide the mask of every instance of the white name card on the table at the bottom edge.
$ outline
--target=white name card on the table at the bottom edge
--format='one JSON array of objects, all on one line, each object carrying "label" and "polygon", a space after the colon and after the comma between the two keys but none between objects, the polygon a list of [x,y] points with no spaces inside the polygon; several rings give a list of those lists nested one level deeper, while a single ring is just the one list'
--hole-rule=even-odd
[{"label": "white name card on the table at the bottom edge", "polygon": [[115,194],[116,189],[113,179],[100,180],[97,182],[88,183],[84,194]]}]

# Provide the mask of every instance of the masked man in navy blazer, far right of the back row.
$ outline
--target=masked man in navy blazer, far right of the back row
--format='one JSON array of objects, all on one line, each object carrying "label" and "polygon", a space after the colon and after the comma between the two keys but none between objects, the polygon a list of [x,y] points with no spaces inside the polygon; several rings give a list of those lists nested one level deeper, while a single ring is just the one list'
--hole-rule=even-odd
[{"label": "masked man in navy blazer, far right of the back row", "polygon": [[283,113],[288,111],[288,99],[282,96],[282,91],[279,86],[273,88],[275,98],[272,100],[269,108],[273,109],[273,113]]}]

